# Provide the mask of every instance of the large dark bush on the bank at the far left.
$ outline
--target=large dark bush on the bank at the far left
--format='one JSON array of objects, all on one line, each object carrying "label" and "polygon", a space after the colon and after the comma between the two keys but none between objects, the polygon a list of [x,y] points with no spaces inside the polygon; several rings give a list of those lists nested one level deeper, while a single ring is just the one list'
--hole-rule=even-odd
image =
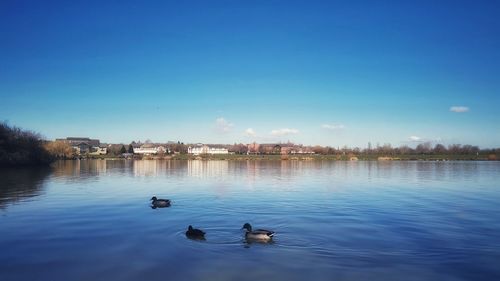
[{"label": "large dark bush on the bank at the far left", "polygon": [[0,123],[0,166],[48,165],[54,157],[35,132]]}]

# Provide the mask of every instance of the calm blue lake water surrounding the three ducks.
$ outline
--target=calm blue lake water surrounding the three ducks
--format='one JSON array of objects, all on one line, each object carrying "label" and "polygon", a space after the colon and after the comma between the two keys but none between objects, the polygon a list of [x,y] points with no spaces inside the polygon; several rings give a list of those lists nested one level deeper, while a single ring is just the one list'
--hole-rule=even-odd
[{"label": "calm blue lake water surrounding the three ducks", "polygon": [[[0,280],[500,280],[500,162],[95,160],[0,177]],[[245,222],[274,243],[246,243]]]}]

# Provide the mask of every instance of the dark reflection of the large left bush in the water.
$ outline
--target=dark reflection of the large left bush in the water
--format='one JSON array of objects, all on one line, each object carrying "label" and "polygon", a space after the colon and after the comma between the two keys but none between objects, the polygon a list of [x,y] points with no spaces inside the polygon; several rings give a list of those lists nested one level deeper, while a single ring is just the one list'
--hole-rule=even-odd
[{"label": "dark reflection of the large left bush in the water", "polygon": [[0,170],[0,209],[9,203],[38,196],[43,191],[44,180],[50,168],[19,168]]}]

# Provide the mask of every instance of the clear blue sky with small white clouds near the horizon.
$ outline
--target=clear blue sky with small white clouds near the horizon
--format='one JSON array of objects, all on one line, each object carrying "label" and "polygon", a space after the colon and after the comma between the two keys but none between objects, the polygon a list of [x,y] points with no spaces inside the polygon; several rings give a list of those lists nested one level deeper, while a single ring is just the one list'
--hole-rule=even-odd
[{"label": "clear blue sky with small white clouds near the horizon", "polygon": [[499,1],[0,1],[47,139],[500,147]]}]

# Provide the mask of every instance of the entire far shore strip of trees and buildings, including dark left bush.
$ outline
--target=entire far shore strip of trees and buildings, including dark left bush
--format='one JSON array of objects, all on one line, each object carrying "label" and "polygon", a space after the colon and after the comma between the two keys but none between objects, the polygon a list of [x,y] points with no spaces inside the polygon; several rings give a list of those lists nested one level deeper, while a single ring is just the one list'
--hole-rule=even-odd
[{"label": "entire far shore strip of trees and buildings, including dark left bush", "polygon": [[390,144],[372,148],[334,148],[278,144],[184,144],[180,141],[105,144],[90,138],[44,140],[40,134],[0,123],[0,166],[49,165],[56,159],[164,160],[337,160],[337,161],[495,161],[500,148],[419,143],[415,147]]}]

